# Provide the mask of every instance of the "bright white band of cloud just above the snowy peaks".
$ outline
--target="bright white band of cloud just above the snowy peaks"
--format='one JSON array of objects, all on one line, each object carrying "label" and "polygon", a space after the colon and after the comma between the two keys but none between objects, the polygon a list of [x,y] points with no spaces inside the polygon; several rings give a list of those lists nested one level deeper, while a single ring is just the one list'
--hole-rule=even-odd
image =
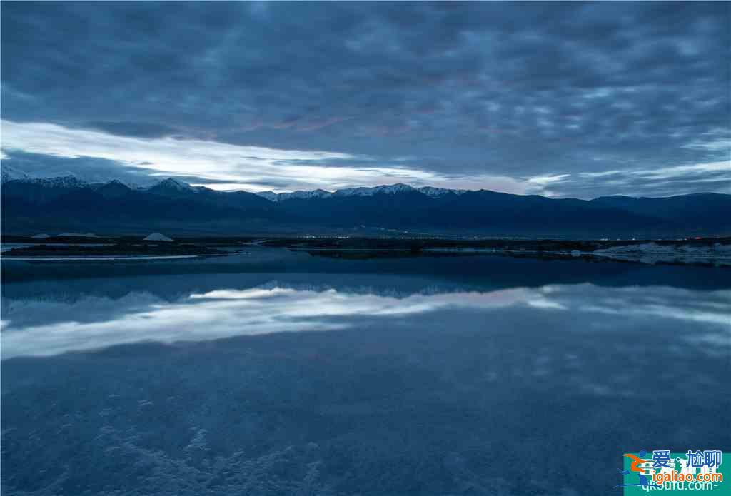
[{"label": "bright white band of cloud just above the snowy peaks", "polygon": [[423,169],[376,165],[369,156],[320,150],[277,150],[173,137],[123,137],[47,123],[2,121],[3,150],[14,167],[34,175],[74,174],[88,180],[178,176],[215,189],[335,190],[407,182],[414,186],[482,187],[524,193],[530,181],[490,175],[451,177]]}]

